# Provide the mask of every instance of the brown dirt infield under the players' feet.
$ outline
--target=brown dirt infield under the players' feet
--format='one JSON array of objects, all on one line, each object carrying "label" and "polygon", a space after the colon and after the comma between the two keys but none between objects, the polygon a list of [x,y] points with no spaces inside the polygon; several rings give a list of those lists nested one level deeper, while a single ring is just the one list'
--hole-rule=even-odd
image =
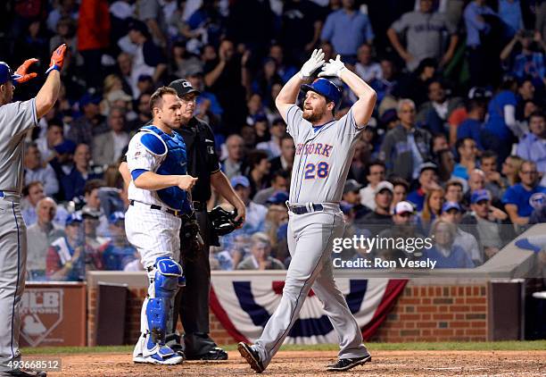
[{"label": "brown dirt infield under the players' feet", "polygon": [[[237,351],[224,362],[176,366],[133,364],[128,354],[33,355],[60,357],[62,373],[51,376],[255,376]],[[373,360],[346,373],[327,373],[332,351],[281,351],[262,373],[270,376],[546,376],[542,351],[372,351]]]}]

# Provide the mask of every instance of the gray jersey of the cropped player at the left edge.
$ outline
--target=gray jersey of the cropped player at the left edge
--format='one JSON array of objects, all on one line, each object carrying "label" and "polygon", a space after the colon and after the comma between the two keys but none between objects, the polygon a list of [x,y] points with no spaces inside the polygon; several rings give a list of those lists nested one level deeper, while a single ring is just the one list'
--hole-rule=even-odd
[{"label": "gray jersey of the cropped player at the left edge", "polygon": [[21,194],[26,132],[37,125],[36,102],[0,106],[0,190]]}]

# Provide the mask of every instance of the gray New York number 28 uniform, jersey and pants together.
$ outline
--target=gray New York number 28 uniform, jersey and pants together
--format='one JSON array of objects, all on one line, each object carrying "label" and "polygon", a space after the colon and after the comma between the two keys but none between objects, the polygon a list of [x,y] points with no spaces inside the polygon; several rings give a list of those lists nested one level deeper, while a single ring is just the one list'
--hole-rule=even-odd
[{"label": "gray New York number 28 uniform, jersey and pants together", "polygon": [[[339,121],[313,127],[302,118],[296,105],[286,113],[287,130],[294,138],[296,154],[292,170],[291,204],[337,203],[354,155],[360,131],[352,109]],[[334,281],[330,263],[333,240],[343,237],[343,214],[335,208],[308,214],[290,214],[287,230],[288,251],[292,256],[286,272],[283,297],[271,315],[260,339],[252,346],[267,367],[283,344],[302,309],[311,286],[339,339],[338,357],[368,356],[362,333],[345,297]]]}]

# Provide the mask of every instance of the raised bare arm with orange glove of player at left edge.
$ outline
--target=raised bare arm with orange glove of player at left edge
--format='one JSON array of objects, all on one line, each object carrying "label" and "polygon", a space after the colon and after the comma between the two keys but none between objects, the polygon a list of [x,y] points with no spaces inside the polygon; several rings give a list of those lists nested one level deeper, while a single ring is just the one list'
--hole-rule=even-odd
[{"label": "raised bare arm with orange glove of player at left edge", "polygon": [[37,117],[41,118],[51,110],[57,101],[59,96],[59,89],[61,88],[61,73],[62,64],[64,63],[64,55],[66,54],[66,45],[62,44],[57,47],[54,53],[51,55],[51,63],[45,73],[47,79],[44,86],[40,88],[36,96],[36,113]]}]

